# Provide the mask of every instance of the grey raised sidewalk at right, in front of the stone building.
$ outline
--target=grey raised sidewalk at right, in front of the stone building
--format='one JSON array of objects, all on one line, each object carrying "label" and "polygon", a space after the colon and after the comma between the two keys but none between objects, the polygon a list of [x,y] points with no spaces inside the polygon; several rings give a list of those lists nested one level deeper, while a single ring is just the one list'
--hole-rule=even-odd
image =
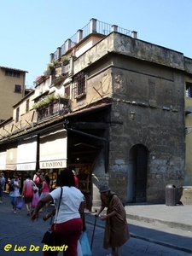
[{"label": "grey raised sidewalk at right, in front of the stone building", "polygon": [[[125,211],[132,237],[192,253],[192,206],[127,204]],[[93,215],[86,213],[87,223],[94,224]],[[104,227],[100,219],[96,225]]]}]

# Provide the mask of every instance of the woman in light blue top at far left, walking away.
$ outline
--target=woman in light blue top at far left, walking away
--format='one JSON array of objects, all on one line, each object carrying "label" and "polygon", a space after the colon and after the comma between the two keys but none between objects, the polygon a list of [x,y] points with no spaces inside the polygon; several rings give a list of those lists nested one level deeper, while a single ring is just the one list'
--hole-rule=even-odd
[{"label": "woman in light blue top at far left, walking away", "polygon": [[18,176],[15,176],[15,178],[9,182],[9,196],[10,203],[12,204],[12,211],[16,213],[16,205],[20,196],[20,180]]}]

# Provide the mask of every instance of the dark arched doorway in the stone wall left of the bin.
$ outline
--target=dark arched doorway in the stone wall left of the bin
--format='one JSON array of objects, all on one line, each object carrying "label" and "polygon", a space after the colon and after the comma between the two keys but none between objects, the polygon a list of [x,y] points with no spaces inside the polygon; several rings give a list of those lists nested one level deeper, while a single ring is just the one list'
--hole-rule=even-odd
[{"label": "dark arched doorway in the stone wall left of the bin", "polygon": [[148,176],[148,148],[133,146],[129,153],[127,202],[145,202]]}]

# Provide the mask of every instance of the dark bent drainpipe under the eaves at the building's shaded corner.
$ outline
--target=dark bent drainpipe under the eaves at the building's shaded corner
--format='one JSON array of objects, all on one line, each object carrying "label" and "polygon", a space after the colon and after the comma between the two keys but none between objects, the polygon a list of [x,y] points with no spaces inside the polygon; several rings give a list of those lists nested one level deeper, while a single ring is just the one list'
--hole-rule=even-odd
[{"label": "dark bent drainpipe under the eaves at the building's shaded corner", "polygon": [[67,127],[68,123],[69,123],[68,120],[65,120],[63,123],[63,126],[67,131],[72,131],[72,132],[79,133],[79,134],[87,136],[87,137],[92,137],[92,138],[95,138],[96,140],[101,140],[105,143],[105,173],[107,173],[108,172],[108,140],[105,139],[104,137],[98,137],[98,136],[92,135],[90,133],[86,133],[84,131],[78,131],[78,130],[69,128],[69,127]]}]

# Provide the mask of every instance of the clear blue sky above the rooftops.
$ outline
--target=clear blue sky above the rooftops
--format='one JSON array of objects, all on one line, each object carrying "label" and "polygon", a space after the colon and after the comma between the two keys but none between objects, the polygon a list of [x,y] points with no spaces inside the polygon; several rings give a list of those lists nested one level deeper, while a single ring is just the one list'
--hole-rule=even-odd
[{"label": "clear blue sky above the rooftops", "polygon": [[0,66],[26,70],[26,86],[49,54],[91,18],[137,31],[137,38],[192,58],[192,0],[9,0],[0,7]]}]

